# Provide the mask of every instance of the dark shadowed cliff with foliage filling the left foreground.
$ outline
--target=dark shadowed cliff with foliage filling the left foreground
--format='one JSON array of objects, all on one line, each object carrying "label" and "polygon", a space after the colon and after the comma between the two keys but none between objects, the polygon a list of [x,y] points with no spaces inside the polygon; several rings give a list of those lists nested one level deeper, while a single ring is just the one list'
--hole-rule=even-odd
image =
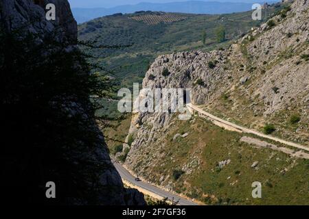
[{"label": "dark shadowed cliff with foliage filling the left foreground", "polygon": [[[47,3],[55,21],[45,18]],[[95,123],[69,3],[1,0],[0,25],[3,201],[144,205],[124,188]],[[47,181],[56,198],[46,198]]]}]

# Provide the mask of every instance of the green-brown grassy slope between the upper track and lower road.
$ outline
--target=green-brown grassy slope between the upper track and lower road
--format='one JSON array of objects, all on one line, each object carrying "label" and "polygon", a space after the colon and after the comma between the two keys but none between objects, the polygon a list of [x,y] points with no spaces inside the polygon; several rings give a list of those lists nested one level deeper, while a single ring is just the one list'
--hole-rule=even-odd
[{"label": "green-brown grassy slope between the upper track and lower road", "polygon": [[[160,184],[161,176],[172,176],[174,170],[191,163],[191,174],[182,175],[178,180],[169,177],[163,185],[170,184],[176,192],[212,205],[308,204],[308,160],[291,158],[270,149],[255,149],[239,142],[241,134],[220,129],[201,118],[194,123],[175,122],[172,127],[176,128],[162,140],[151,142],[145,156],[153,158],[143,159],[151,165],[138,164],[134,169],[140,171],[139,175]],[[187,138],[172,140],[176,133],[184,132],[189,133]],[[165,157],[158,159],[158,154]],[[220,170],[218,162],[227,159],[231,159],[231,163]],[[253,162],[259,162],[257,169],[251,168]],[[285,168],[287,171],[282,172]],[[254,181],[262,183],[262,198],[251,196]]]}]

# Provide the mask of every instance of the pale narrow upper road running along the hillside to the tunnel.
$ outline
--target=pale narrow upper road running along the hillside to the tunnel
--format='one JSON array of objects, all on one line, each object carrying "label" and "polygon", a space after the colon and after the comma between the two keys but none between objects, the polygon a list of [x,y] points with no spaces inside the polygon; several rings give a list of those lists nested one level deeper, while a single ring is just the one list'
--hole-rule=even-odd
[{"label": "pale narrow upper road running along the hillside to the tunnel", "polygon": [[272,136],[267,136],[267,135],[264,135],[263,133],[260,133],[258,131],[247,129],[247,128],[241,127],[240,125],[236,125],[236,124],[233,124],[233,123],[229,123],[226,120],[222,120],[222,118],[218,118],[218,117],[216,117],[216,116],[214,116],[212,114],[209,114],[208,112],[205,112],[204,110],[202,110],[198,106],[192,105],[191,103],[187,104],[187,107],[190,107],[192,110],[195,110],[196,112],[199,112],[200,114],[203,114],[204,116],[207,116],[208,118],[216,120],[217,122],[220,122],[220,123],[223,123],[225,125],[229,125],[231,127],[239,129],[240,131],[243,131],[244,133],[253,133],[255,136],[260,136],[262,138],[268,138],[270,140],[274,140],[275,142],[280,142],[282,144],[293,146],[293,147],[295,147],[297,149],[302,149],[304,151],[309,151],[309,148],[307,146],[302,146],[302,145],[299,145],[299,144],[295,144],[293,142],[287,142],[287,141],[282,140],[280,138],[275,138],[275,137],[272,137]]}]

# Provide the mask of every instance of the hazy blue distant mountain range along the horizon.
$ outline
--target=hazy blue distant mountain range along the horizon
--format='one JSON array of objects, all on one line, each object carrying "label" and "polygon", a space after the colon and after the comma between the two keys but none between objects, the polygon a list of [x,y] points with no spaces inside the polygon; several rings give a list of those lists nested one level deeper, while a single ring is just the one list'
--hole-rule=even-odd
[{"label": "hazy blue distant mountain range along the horizon", "polygon": [[172,3],[139,3],[137,5],[121,5],[114,8],[73,8],[72,11],[76,21],[78,23],[84,23],[101,16],[115,13],[133,13],[141,10],[190,14],[228,14],[233,12],[246,12],[251,10],[251,7],[252,3],[185,1]]}]

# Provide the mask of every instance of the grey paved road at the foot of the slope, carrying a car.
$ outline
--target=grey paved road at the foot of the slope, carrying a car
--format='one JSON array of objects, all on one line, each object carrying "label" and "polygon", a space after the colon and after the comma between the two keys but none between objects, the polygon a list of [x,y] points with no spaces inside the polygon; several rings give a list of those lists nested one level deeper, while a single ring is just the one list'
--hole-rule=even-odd
[{"label": "grey paved road at the foot of the slope, carrying a car", "polygon": [[133,177],[133,175],[131,175],[130,172],[128,172],[128,170],[126,170],[118,162],[115,162],[114,159],[112,159],[112,161],[113,161],[113,164],[116,170],[119,172],[120,177],[122,177],[122,179],[128,181],[129,183],[132,183],[133,185],[136,185],[139,188],[142,188],[144,190],[148,190],[152,193],[155,193],[158,196],[161,196],[163,198],[167,197],[169,200],[179,201],[179,205],[198,205],[194,203],[193,201],[190,201],[180,196],[177,196],[175,194],[172,194],[171,192],[166,192],[165,190],[161,190],[160,188],[157,188],[154,185],[150,185],[149,183],[146,183],[144,181],[135,181],[135,177]]}]

